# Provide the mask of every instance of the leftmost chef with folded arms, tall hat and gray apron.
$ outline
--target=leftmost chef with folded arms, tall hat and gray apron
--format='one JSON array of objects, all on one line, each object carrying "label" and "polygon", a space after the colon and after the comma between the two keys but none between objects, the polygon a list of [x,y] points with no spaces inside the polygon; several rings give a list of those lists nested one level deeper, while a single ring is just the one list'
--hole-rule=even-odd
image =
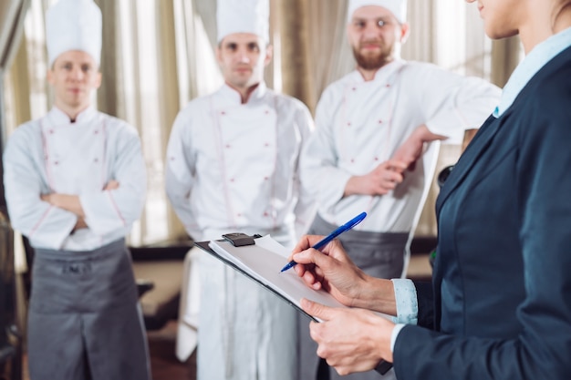
[{"label": "leftmost chef with folded arms, tall hat and gray apron", "polygon": [[99,7],[60,0],[46,21],[54,108],[16,128],[4,155],[10,220],[35,250],[30,377],[150,379],[125,245],[145,197],[140,139],[90,105],[101,80]]}]

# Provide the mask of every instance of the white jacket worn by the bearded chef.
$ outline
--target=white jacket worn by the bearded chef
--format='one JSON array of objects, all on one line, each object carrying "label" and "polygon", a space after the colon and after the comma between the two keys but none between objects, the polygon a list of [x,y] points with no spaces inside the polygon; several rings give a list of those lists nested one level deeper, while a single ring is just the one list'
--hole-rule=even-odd
[{"label": "white jacket worn by the bearded chef", "polygon": [[423,165],[382,196],[343,198],[347,181],[390,159],[410,133],[426,124],[447,142],[462,141],[493,111],[500,89],[476,77],[462,77],[427,63],[397,60],[365,81],[349,73],[324,91],[316,112],[316,133],[302,155],[302,180],[314,190],[317,212],[341,225],[359,212],[358,231],[408,232],[424,189]]}]

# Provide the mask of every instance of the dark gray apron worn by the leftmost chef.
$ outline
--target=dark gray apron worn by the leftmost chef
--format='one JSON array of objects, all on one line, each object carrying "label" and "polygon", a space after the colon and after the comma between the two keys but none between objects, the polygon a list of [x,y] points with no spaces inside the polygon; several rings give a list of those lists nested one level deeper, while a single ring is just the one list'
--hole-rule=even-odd
[{"label": "dark gray apron worn by the leftmost chef", "polygon": [[36,249],[28,313],[32,380],[148,380],[149,353],[124,240]]}]

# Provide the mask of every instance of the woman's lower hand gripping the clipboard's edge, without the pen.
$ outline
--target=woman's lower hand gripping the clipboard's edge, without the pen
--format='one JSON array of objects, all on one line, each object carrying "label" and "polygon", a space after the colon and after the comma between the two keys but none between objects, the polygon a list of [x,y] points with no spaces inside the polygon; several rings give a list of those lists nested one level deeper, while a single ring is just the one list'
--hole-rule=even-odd
[{"label": "woman's lower hand gripping the clipboard's edge, without the pen", "polygon": [[381,360],[392,363],[390,336],[395,324],[364,309],[331,308],[303,299],[301,307],[322,322],[311,322],[317,355],[348,375],[374,369]]}]

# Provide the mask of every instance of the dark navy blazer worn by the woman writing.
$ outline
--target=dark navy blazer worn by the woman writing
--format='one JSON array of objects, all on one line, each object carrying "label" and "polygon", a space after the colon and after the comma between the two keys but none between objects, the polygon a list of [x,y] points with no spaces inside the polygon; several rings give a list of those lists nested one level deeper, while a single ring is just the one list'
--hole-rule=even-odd
[{"label": "dark navy blazer worn by the woman writing", "polygon": [[[571,48],[478,131],[436,204],[399,380],[571,379]],[[430,327],[423,328],[424,327]]]}]

